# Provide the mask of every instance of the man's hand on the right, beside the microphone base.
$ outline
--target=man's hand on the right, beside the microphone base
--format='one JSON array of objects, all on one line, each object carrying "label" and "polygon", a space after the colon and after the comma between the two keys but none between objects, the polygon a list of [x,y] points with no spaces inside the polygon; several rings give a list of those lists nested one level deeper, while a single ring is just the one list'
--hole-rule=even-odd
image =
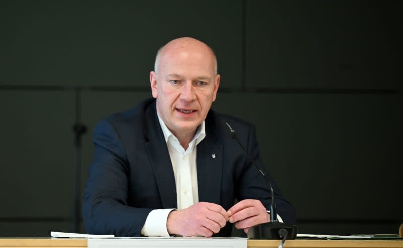
[{"label": "man's hand on the right, beside the microphone base", "polygon": [[228,210],[229,221],[235,223],[237,229],[248,233],[250,227],[270,221],[270,215],[261,201],[245,199]]}]

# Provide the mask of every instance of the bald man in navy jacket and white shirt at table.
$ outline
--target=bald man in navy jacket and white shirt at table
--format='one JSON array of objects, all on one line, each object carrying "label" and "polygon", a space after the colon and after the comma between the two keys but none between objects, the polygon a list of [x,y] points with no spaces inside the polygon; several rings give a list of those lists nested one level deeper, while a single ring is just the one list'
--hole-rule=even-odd
[{"label": "bald man in navy jacket and white shirt at table", "polygon": [[[232,223],[247,232],[268,222],[269,187],[223,123],[262,164],[254,126],[210,109],[220,85],[212,49],[189,37],[169,42],[157,53],[150,85],[154,99],[94,130],[87,232],[230,236]],[[274,190],[279,216],[294,222],[294,210]]]}]

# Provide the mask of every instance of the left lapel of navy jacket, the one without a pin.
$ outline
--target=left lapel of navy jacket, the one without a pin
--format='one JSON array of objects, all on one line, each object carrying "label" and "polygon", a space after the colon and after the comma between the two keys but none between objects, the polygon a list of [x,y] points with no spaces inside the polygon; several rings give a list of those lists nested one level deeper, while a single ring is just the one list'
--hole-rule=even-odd
[{"label": "left lapel of navy jacket, the one without a pin", "polygon": [[146,150],[154,171],[163,208],[177,208],[175,176],[164,134],[158,122],[155,102],[146,109]]}]

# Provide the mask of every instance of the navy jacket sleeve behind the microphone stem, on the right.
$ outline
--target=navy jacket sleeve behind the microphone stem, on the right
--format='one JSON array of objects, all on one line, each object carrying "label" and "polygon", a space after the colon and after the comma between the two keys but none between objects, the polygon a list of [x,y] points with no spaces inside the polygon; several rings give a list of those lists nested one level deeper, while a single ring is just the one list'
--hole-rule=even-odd
[{"label": "navy jacket sleeve behind the microphone stem, on the right", "polygon": [[[255,161],[256,165],[265,174],[266,178],[272,184],[275,203],[277,206],[277,214],[281,216],[285,223],[294,224],[296,222],[296,214],[291,204],[283,197],[280,189],[274,183],[272,177],[266,170],[263,161],[260,157],[259,147],[257,144],[256,131],[254,125],[248,132],[247,147],[246,150],[250,154],[250,157]],[[253,166],[249,159],[245,162],[245,167],[241,173],[242,178],[239,186],[239,200],[243,199],[258,199],[260,200],[266,209],[270,209],[272,201],[270,186],[263,179],[259,171]]]}]

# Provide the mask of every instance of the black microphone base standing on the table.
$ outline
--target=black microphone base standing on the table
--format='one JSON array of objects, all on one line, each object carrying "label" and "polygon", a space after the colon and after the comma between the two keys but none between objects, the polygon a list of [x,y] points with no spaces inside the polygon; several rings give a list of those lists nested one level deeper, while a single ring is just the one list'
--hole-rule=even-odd
[{"label": "black microphone base standing on the table", "polygon": [[297,237],[298,227],[295,225],[287,225],[280,222],[268,222],[253,226],[248,230],[249,239],[283,239],[279,235],[280,229],[286,229],[287,239],[295,239]]}]

